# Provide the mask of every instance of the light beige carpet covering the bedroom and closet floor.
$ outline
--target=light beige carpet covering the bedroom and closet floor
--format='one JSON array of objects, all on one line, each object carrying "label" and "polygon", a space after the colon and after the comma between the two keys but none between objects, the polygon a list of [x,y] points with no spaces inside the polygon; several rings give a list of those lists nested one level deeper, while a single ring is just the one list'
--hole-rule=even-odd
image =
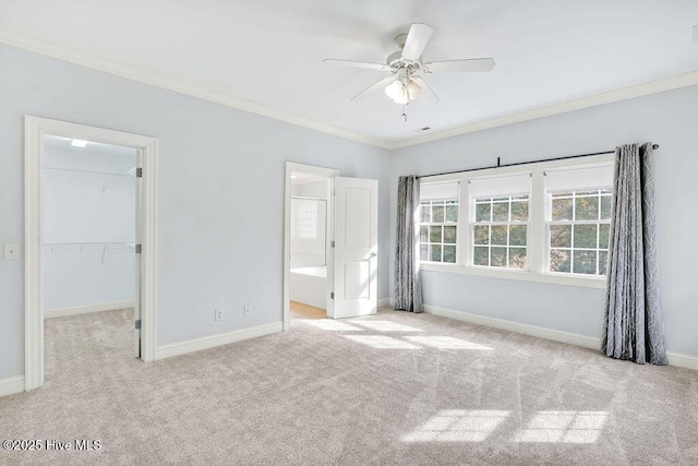
[{"label": "light beige carpet covering the bedroom and closet floor", "polygon": [[48,320],[0,437],[101,449],[0,464],[698,464],[689,370],[395,311],[154,363],[131,338],[128,311]]}]

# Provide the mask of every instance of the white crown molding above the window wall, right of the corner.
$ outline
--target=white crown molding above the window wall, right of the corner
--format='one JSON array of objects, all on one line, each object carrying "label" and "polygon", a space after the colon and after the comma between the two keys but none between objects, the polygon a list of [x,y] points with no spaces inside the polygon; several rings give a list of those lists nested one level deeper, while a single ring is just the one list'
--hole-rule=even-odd
[{"label": "white crown molding above the window wall, right of the corner", "polygon": [[585,108],[597,107],[599,105],[613,104],[615,101],[628,100],[636,97],[642,97],[651,94],[659,94],[666,91],[673,91],[681,87],[688,87],[698,84],[698,70],[687,73],[676,74],[674,76],[662,77],[660,80],[648,81],[641,84],[621,87],[617,89],[594,94],[574,100],[561,101],[557,104],[534,108],[531,110],[520,111],[517,113],[505,115],[503,117],[482,120],[474,123],[462,124],[447,130],[438,131],[431,134],[424,134],[409,140],[397,141],[388,145],[390,151],[412,145],[424,144],[432,141],[454,138],[462,134],[474,133],[477,131],[491,130],[493,128],[505,127],[507,124],[521,123],[524,121],[535,120],[539,118],[552,117],[555,115],[567,113],[569,111],[581,110]]}]

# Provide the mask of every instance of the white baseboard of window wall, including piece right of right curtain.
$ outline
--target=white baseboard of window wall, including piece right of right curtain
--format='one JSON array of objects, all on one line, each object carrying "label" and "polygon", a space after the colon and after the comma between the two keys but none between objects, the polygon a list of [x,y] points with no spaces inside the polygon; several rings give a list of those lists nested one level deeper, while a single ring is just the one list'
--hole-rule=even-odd
[{"label": "white baseboard of window wall, including piece right of right curtain", "polygon": [[[483,315],[470,314],[468,312],[454,311],[450,309],[437,308],[435,306],[424,306],[424,312],[440,315],[442,318],[454,319],[477,325],[491,326],[493,328],[506,330],[509,332],[522,333],[525,335],[537,336],[539,338],[552,339],[553,342],[567,343],[569,345],[581,346],[582,348],[599,349],[601,339],[592,336],[579,335],[576,333],[561,332],[557,330],[544,328],[535,325],[521,324],[503,319],[486,318]],[[681,353],[666,351],[669,365],[677,368],[698,370],[698,357],[683,355]]]}]

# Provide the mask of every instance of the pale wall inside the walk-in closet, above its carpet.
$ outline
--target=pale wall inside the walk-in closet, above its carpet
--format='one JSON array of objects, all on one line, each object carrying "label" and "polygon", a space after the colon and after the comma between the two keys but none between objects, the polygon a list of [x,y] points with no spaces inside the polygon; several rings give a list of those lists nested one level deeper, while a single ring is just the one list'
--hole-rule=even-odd
[{"label": "pale wall inside the walk-in closet, above its carpet", "polygon": [[45,310],[133,301],[133,249],[61,244],[135,242],[135,179],[122,176],[135,166],[135,150],[129,152],[99,154],[93,144],[45,146]]}]

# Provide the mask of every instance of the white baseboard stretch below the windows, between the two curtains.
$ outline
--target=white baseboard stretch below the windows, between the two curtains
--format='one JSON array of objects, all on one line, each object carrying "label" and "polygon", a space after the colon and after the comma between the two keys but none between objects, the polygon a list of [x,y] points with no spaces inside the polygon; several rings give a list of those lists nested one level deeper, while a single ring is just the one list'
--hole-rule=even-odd
[{"label": "white baseboard stretch below the windows, between the two curtains", "polygon": [[601,342],[599,338],[579,335],[576,333],[561,332],[557,330],[544,328],[535,325],[505,321],[503,319],[486,318],[483,315],[470,314],[467,312],[452,311],[450,309],[437,308],[435,306],[424,306],[424,312],[472,324],[491,326],[494,328],[506,330],[508,332],[522,333],[524,335],[537,336],[539,338],[552,339],[553,342],[567,343],[575,346],[581,346],[583,348],[598,349],[601,347]]}]

